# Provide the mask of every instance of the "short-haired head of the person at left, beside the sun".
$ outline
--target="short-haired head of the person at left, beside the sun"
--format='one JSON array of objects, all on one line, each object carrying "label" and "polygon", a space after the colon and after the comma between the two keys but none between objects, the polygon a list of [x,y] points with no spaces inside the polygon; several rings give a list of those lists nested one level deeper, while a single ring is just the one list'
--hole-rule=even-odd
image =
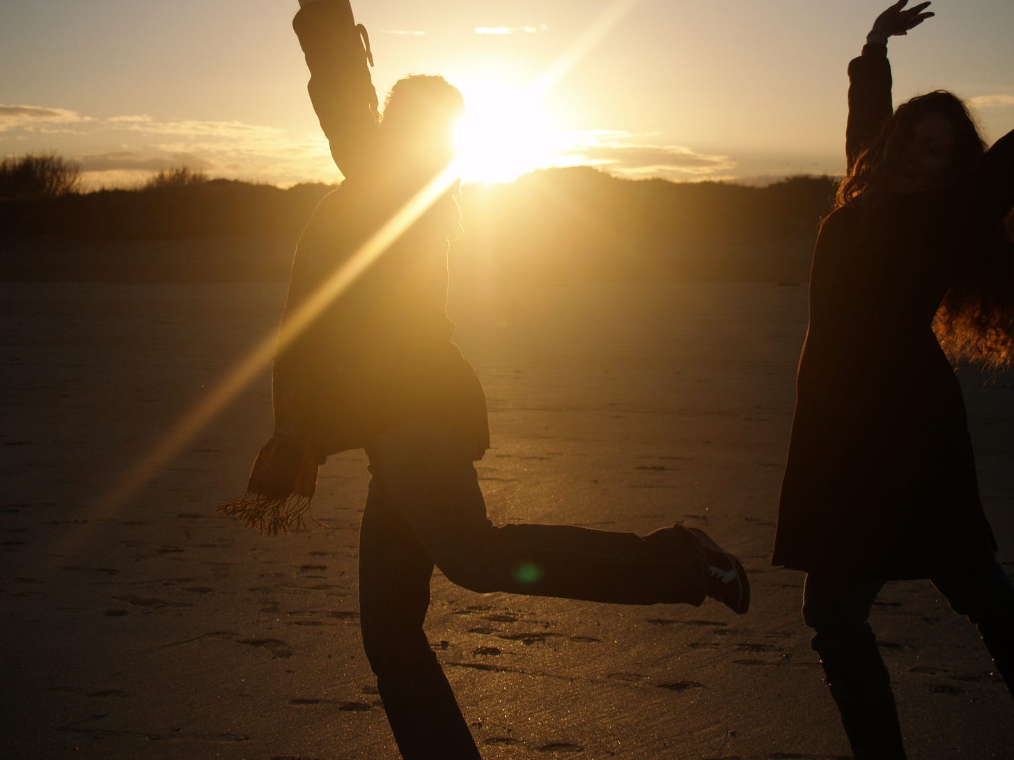
[{"label": "short-haired head of the person at left, beside the sun", "polygon": [[463,112],[461,93],[446,79],[414,74],[387,93],[381,132],[397,160],[439,171],[454,157],[454,128]]}]

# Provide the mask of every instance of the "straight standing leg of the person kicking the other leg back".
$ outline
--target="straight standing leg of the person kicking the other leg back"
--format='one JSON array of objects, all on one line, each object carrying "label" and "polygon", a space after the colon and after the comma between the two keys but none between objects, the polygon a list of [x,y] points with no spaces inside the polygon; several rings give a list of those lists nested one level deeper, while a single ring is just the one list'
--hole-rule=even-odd
[{"label": "straight standing leg of the person kicking the other leg back", "polygon": [[359,534],[363,647],[403,757],[479,758],[423,621],[433,561],[376,482]]}]

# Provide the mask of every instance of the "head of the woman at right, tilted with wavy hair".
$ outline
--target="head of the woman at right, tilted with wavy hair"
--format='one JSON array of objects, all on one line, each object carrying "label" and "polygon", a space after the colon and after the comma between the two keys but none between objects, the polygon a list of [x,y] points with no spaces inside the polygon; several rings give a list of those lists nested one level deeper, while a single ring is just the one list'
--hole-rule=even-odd
[{"label": "head of the woman at right, tilted with wavy hair", "polygon": [[838,206],[870,193],[918,193],[953,181],[974,167],[985,149],[959,98],[945,90],[919,95],[897,107],[856,160]]}]

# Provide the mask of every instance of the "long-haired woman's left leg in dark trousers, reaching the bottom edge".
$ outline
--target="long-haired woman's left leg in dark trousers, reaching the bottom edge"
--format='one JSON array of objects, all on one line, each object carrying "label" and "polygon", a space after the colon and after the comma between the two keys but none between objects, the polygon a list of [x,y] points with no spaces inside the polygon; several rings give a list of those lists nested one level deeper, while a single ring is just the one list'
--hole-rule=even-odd
[{"label": "long-haired woman's left leg in dark trousers, reaching the bottom edge", "polygon": [[884,582],[808,574],[803,619],[857,758],[903,758],[890,676],[867,618]]}]

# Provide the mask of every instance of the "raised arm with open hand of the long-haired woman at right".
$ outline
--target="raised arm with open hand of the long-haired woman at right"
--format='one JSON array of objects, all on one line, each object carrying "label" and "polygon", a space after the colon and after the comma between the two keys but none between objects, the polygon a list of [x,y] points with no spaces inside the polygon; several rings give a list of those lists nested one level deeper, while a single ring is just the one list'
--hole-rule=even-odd
[{"label": "raised arm with open hand of the long-haired woman at right", "polygon": [[863,54],[849,64],[849,123],[845,133],[845,153],[851,174],[859,154],[873,141],[881,125],[890,118],[891,75],[887,61],[887,40],[909,33],[933,15],[930,3],[906,8],[909,0],[898,0],[876,17],[866,35]]}]

